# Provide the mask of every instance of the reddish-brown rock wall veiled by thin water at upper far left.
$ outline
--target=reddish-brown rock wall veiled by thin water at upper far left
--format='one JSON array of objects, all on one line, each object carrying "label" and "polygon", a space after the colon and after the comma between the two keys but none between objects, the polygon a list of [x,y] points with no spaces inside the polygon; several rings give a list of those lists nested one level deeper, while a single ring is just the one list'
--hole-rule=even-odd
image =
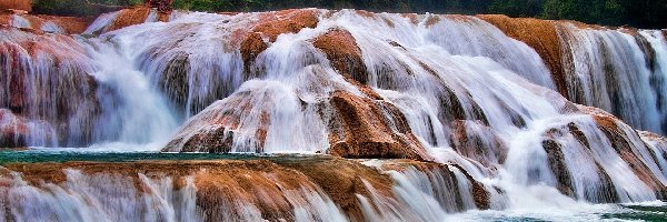
[{"label": "reddish-brown rock wall veiled by thin water at upper far left", "polygon": [[[89,58],[83,56],[80,44],[69,36],[43,34],[31,29],[4,27],[0,33],[13,41],[0,43],[0,57],[14,61],[0,68],[0,82],[8,82],[8,88],[0,88],[0,105],[31,121],[49,121],[57,128],[60,140],[71,132],[69,121],[74,115],[81,118],[76,131],[90,132],[99,111],[97,83],[88,74]],[[36,65],[48,68],[44,71],[49,78],[36,74]],[[90,137],[80,135],[82,140]]]}]

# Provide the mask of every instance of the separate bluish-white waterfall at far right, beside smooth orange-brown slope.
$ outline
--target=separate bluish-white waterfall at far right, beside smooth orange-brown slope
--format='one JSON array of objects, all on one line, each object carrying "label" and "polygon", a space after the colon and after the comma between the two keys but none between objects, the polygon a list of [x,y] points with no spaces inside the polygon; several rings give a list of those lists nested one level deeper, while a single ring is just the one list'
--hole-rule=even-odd
[{"label": "separate bluish-white waterfall at far right, beside smooth orange-brown slope", "polygon": [[648,61],[636,38],[624,30],[580,29],[568,23],[557,30],[566,50],[563,62],[574,102],[607,110],[636,128],[664,132],[665,114],[657,107],[661,101],[651,91],[658,77],[653,77],[647,64],[667,60]]}]

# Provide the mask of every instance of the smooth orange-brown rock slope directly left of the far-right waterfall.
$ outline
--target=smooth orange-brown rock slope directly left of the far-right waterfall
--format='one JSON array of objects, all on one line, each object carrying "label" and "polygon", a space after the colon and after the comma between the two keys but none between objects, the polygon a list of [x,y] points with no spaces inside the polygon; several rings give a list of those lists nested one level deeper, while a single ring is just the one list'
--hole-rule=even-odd
[{"label": "smooth orange-brown rock slope directly left of the far-right waterfall", "polygon": [[560,94],[570,98],[567,89],[566,68],[564,68],[564,63],[570,62],[564,61],[567,58],[563,56],[564,46],[559,41],[555,27],[556,21],[509,18],[501,14],[480,14],[477,18],[494,24],[508,37],[522,41],[535,49],[551,71],[551,78]]}]

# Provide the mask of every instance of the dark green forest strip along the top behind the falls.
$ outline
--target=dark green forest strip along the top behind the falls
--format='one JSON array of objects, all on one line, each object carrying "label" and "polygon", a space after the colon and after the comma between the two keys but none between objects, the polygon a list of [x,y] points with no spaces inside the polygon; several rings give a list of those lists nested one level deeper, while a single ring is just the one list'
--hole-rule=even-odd
[{"label": "dark green forest strip along the top behind the falls", "polygon": [[[36,13],[97,16],[94,4],[135,6],[142,0],[33,0]],[[586,23],[667,28],[667,0],[173,0],[192,11],[268,11],[288,8],[364,9],[375,12],[499,13]]]}]

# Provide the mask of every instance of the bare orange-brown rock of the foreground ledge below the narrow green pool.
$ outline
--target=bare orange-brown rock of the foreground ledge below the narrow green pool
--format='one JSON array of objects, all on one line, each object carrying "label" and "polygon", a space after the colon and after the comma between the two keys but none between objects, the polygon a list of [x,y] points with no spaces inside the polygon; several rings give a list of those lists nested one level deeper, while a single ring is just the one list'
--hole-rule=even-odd
[{"label": "bare orange-brown rock of the foreground ledge below the narrow green pool", "polygon": [[[397,169],[418,162],[409,162]],[[437,168],[435,163],[425,163]],[[233,212],[231,203],[249,203],[258,206],[261,216],[269,221],[293,220],[292,203],[288,192],[306,188],[321,191],[339,205],[342,212],[354,221],[367,221],[361,213],[357,194],[370,196],[362,181],[374,186],[375,194],[395,200],[391,179],[378,170],[344,159],[315,157],[312,159],[277,158],[275,160],[216,160],[216,161],[142,161],[123,163],[67,162],[67,163],[14,163],[4,165],[6,170],[17,171],[30,185],[41,186],[43,182],[62,184],[67,181],[64,169],[79,170],[89,175],[110,174],[133,181],[138,191],[148,192],[138,174],[148,178],[172,180],[173,188],[185,185],[185,176],[192,176],[197,188],[197,206],[207,221],[217,221]],[[1,169],[1,168],[0,168]],[[425,169],[427,170],[427,169]],[[0,171],[2,174],[8,172]],[[10,178],[10,176],[8,176]],[[0,180],[0,186],[9,185]],[[293,198],[293,194],[292,196]],[[371,204],[374,204],[371,202]],[[229,206],[221,211],[220,206]]]}]

